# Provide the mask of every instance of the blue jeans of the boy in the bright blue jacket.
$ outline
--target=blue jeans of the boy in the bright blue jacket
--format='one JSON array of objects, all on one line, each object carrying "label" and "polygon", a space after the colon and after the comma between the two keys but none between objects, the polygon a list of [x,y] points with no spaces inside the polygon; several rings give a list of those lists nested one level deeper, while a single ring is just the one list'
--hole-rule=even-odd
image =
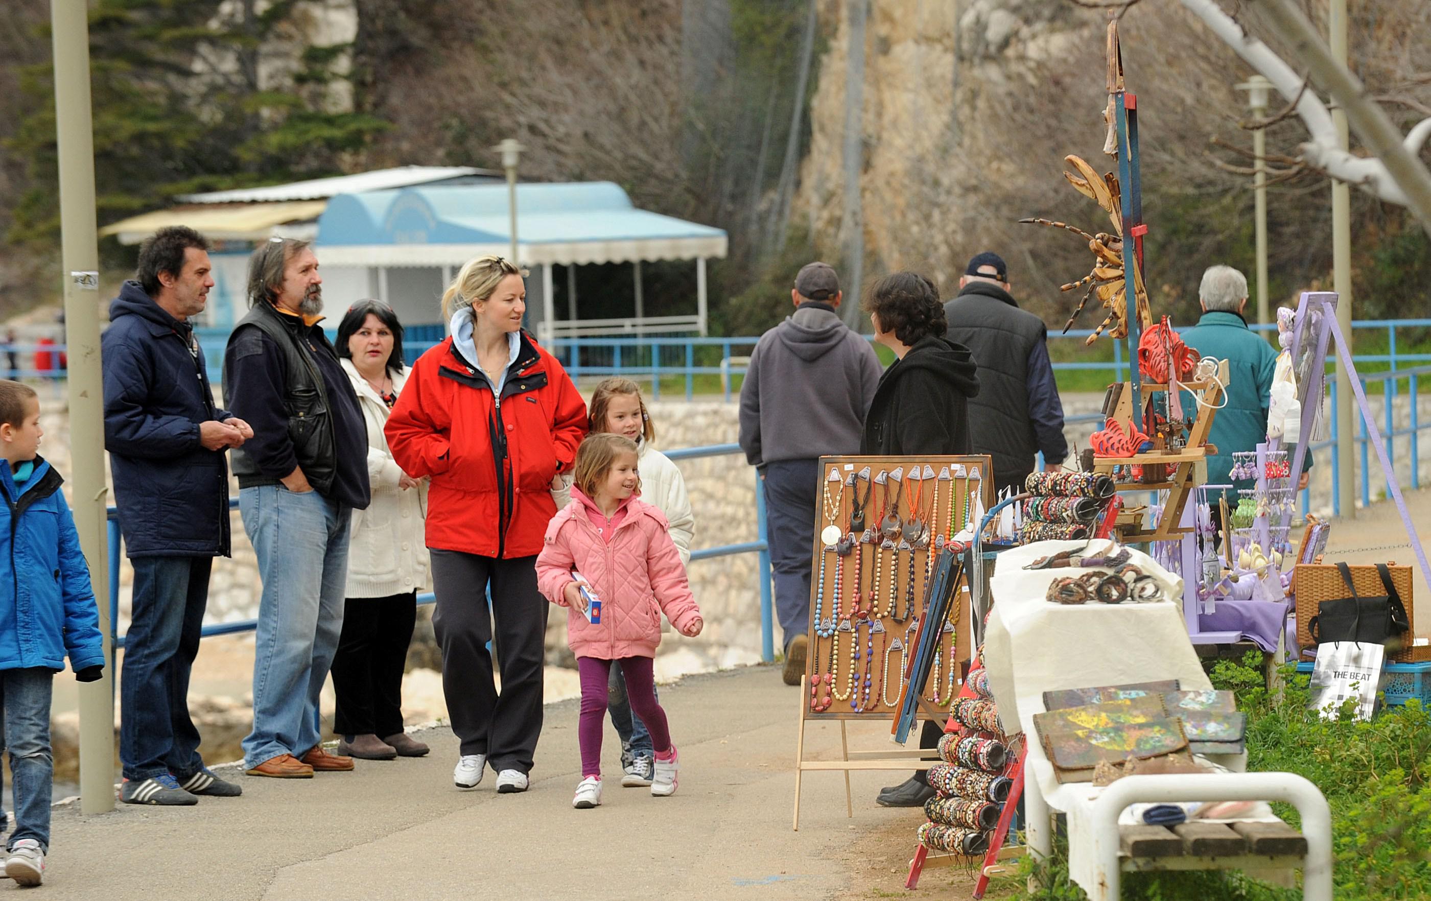
[{"label": "blue jeans of the boy in the bright blue jacket", "polygon": [[[4,748],[10,749],[14,789],[14,832],[10,844],[33,838],[50,850],[50,792],[54,757],[50,754],[50,688],[54,671],[0,669],[0,706],[4,712]],[[0,821],[3,825],[3,821]]]}]

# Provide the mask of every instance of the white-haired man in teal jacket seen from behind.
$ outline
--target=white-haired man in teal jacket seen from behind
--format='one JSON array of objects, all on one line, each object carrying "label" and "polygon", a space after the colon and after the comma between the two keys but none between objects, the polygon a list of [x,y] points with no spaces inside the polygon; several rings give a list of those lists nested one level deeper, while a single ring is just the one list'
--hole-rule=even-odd
[{"label": "white-haired man in teal jacket seen from behind", "polygon": [[[1241,450],[1256,450],[1266,440],[1266,410],[1271,403],[1272,375],[1276,370],[1276,349],[1248,328],[1242,310],[1248,305],[1248,280],[1231,266],[1211,266],[1202,273],[1198,286],[1202,303],[1202,319],[1182,333],[1189,348],[1196,348],[1201,356],[1228,360],[1228,402],[1212,420],[1208,440],[1216,445],[1218,453],[1208,458],[1209,485],[1235,485],[1252,488],[1255,481],[1234,482],[1232,455]],[[1183,396],[1183,409],[1189,409],[1192,398]],[[1307,458],[1305,468],[1311,468]],[[1298,489],[1307,488],[1307,472]],[[1218,492],[1209,492],[1212,503]],[[1235,506],[1238,495],[1228,492],[1228,505]]]}]

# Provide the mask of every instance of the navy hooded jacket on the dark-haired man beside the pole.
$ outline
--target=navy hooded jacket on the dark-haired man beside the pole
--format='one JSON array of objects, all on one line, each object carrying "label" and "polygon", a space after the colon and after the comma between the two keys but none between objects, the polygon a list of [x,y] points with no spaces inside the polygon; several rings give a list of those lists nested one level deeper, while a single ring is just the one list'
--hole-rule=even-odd
[{"label": "navy hooded jacket on the dark-haired man beside the pole", "polygon": [[129,280],[109,307],[104,449],[129,556],[229,555],[229,471],[199,443],[223,422],[193,329]]}]

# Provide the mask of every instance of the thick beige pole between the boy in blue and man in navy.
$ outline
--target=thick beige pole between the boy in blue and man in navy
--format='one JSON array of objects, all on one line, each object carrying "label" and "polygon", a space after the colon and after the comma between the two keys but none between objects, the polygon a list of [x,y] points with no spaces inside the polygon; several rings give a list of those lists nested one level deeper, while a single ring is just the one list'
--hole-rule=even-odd
[{"label": "thick beige pole between the boy in blue and man in navy", "polygon": [[[74,528],[89,563],[99,631],[109,641],[109,535],[104,486],[104,390],[99,359],[99,237],[94,223],[94,133],[90,119],[89,10],[84,0],[53,0],[54,130],[60,163],[60,242],[64,345],[69,358],[70,472]],[[114,809],[113,666],[82,682],[80,811]]]}]

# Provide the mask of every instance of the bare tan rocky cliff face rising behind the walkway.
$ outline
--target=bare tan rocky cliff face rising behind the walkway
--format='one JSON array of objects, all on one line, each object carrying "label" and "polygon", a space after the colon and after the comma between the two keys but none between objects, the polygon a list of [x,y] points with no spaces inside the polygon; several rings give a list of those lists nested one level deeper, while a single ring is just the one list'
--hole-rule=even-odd
[{"label": "bare tan rocky cliff face rising behind the walkway", "polygon": [[[829,50],[811,102],[794,220],[804,217],[817,247],[837,247],[849,3],[824,0],[820,14]],[[1066,0],[870,6],[860,160],[866,276],[920,269],[952,295],[969,256],[993,249],[1009,262],[1020,300],[1062,325],[1076,300],[1059,296],[1058,286],[1088,272],[1088,253],[1066,233],[1016,220],[1047,216],[1109,230],[1093,203],[1059,176],[1068,153],[1099,170],[1113,169],[1102,154],[1105,21]],[[1234,120],[1245,109],[1234,89],[1244,73],[1176,3],[1139,6],[1120,29],[1129,89],[1146,110],[1145,190],[1151,197],[1199,195],[1199,215],[1209,220],[1176,236],[1183,253],[1225,243],[1241,226],[1226,210],[1216,213],[1222,219],[1212,210],[1228,197],[1249,206],[1248,192],[1213,167],[1205,147],[1218,132],[1249,140]],[[1195,287],[1201,266],[1219,260],[1178,267],[1178,260],[1158,256],[1159,242],[1173,237],[1159,232],[1159,213],[1158,206],[1149,209],[1152,287],[1165,287],[1156,283],[1162,276],[1166,297],[1176,300]],[[1100,319],[1090,310],[1079,326]]]}]

